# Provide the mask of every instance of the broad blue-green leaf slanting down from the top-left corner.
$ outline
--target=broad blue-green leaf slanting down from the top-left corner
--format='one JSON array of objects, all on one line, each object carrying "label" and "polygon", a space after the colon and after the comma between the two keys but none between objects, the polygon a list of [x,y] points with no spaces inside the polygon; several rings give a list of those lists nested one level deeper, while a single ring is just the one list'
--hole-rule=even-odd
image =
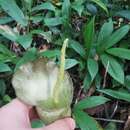
[{"label": "broad blue-green leaf slanting down from the top-left corner", "polygon": [[8,15],[21,25],[26,26],[28,24],[22,10],[14,0],[0,0],[0,6]]}]

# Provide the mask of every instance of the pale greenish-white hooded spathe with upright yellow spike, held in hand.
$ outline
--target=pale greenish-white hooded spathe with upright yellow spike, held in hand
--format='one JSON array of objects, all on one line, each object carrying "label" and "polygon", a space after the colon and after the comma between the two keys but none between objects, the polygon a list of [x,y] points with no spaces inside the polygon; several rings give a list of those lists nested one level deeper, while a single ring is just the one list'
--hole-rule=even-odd
[{"label": "pale greenish-white hooded spathe with upright yellow spike, held in hand", "polygon": [[64,71],[65,40],[61,50],[61,65],[39,58],[22,65],[14,74],[12,84],[23,102],[35,106],[39,117],[46,123],[71,116],[73,83]]}]

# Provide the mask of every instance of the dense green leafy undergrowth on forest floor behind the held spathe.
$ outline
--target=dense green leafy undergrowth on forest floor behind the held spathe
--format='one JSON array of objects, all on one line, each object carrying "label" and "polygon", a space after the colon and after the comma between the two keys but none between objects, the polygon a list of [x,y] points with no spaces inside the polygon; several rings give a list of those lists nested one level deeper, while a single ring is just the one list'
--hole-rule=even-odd
[{"label": "dense green leafy undergrowth on forest floor behind the held spathe", "polygon": [[128,0],[0,0],[0,105],[15,98],[21,65],[38,57],[59,65],[68,38],[77,129],[130,129],[129,30]]}]

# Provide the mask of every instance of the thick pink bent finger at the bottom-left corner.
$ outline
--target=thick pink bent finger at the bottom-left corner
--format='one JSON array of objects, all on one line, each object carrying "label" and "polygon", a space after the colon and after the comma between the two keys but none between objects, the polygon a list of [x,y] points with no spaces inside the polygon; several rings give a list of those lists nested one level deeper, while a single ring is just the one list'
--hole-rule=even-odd
[{"label": "thick pink bent finger at the bottom-left corner", "polygon": [[9,122],[8,125],[13,127],[30,127],[29,121],[29,110],[31,107],[22,103],[18,99],[14,99],[9,104],[5,105],[0,109],[0,115],[2,118],[2,123],[4,125]]}]

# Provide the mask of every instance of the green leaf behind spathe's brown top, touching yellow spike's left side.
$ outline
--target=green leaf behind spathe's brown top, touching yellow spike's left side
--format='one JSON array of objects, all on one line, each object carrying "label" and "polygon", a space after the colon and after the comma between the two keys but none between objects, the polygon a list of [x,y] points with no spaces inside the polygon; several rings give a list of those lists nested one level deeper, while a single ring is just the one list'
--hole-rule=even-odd
[{"label": "green leaf behind spathe's brown top, touching yellow spike's left side", "polygon": [[47,58],[54,58],[57,56],[59,57],[60,54],[61,54],[60,50],[47,50],[47,51],[41,52],[39,55],[47,57]]}]

